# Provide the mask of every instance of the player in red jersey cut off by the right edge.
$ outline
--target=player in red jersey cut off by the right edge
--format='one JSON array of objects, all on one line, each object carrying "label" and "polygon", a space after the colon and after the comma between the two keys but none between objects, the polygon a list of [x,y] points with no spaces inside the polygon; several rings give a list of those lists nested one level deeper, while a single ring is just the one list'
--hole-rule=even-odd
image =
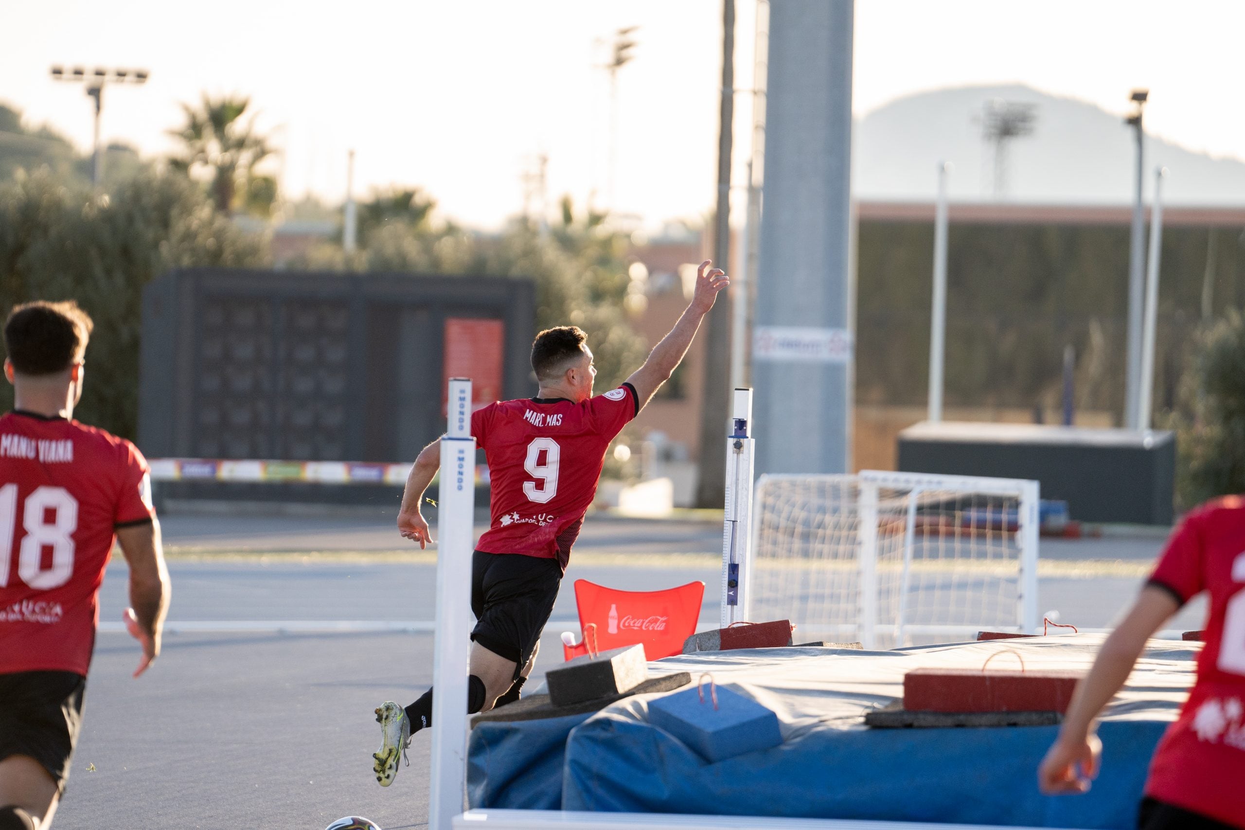
[{"label": "player in red jersey cut off by the right edge", "polygon": [[1093,719],[1124,684],[1145,641],[1195,595],[1210,594],[1198,679],[1150,762],[1140,830],[1245,828],[1245,499],[1191,511],[1128,616],[1077,686],[1038,768],[1043,793],[1084,793],[1102,742]]}]

